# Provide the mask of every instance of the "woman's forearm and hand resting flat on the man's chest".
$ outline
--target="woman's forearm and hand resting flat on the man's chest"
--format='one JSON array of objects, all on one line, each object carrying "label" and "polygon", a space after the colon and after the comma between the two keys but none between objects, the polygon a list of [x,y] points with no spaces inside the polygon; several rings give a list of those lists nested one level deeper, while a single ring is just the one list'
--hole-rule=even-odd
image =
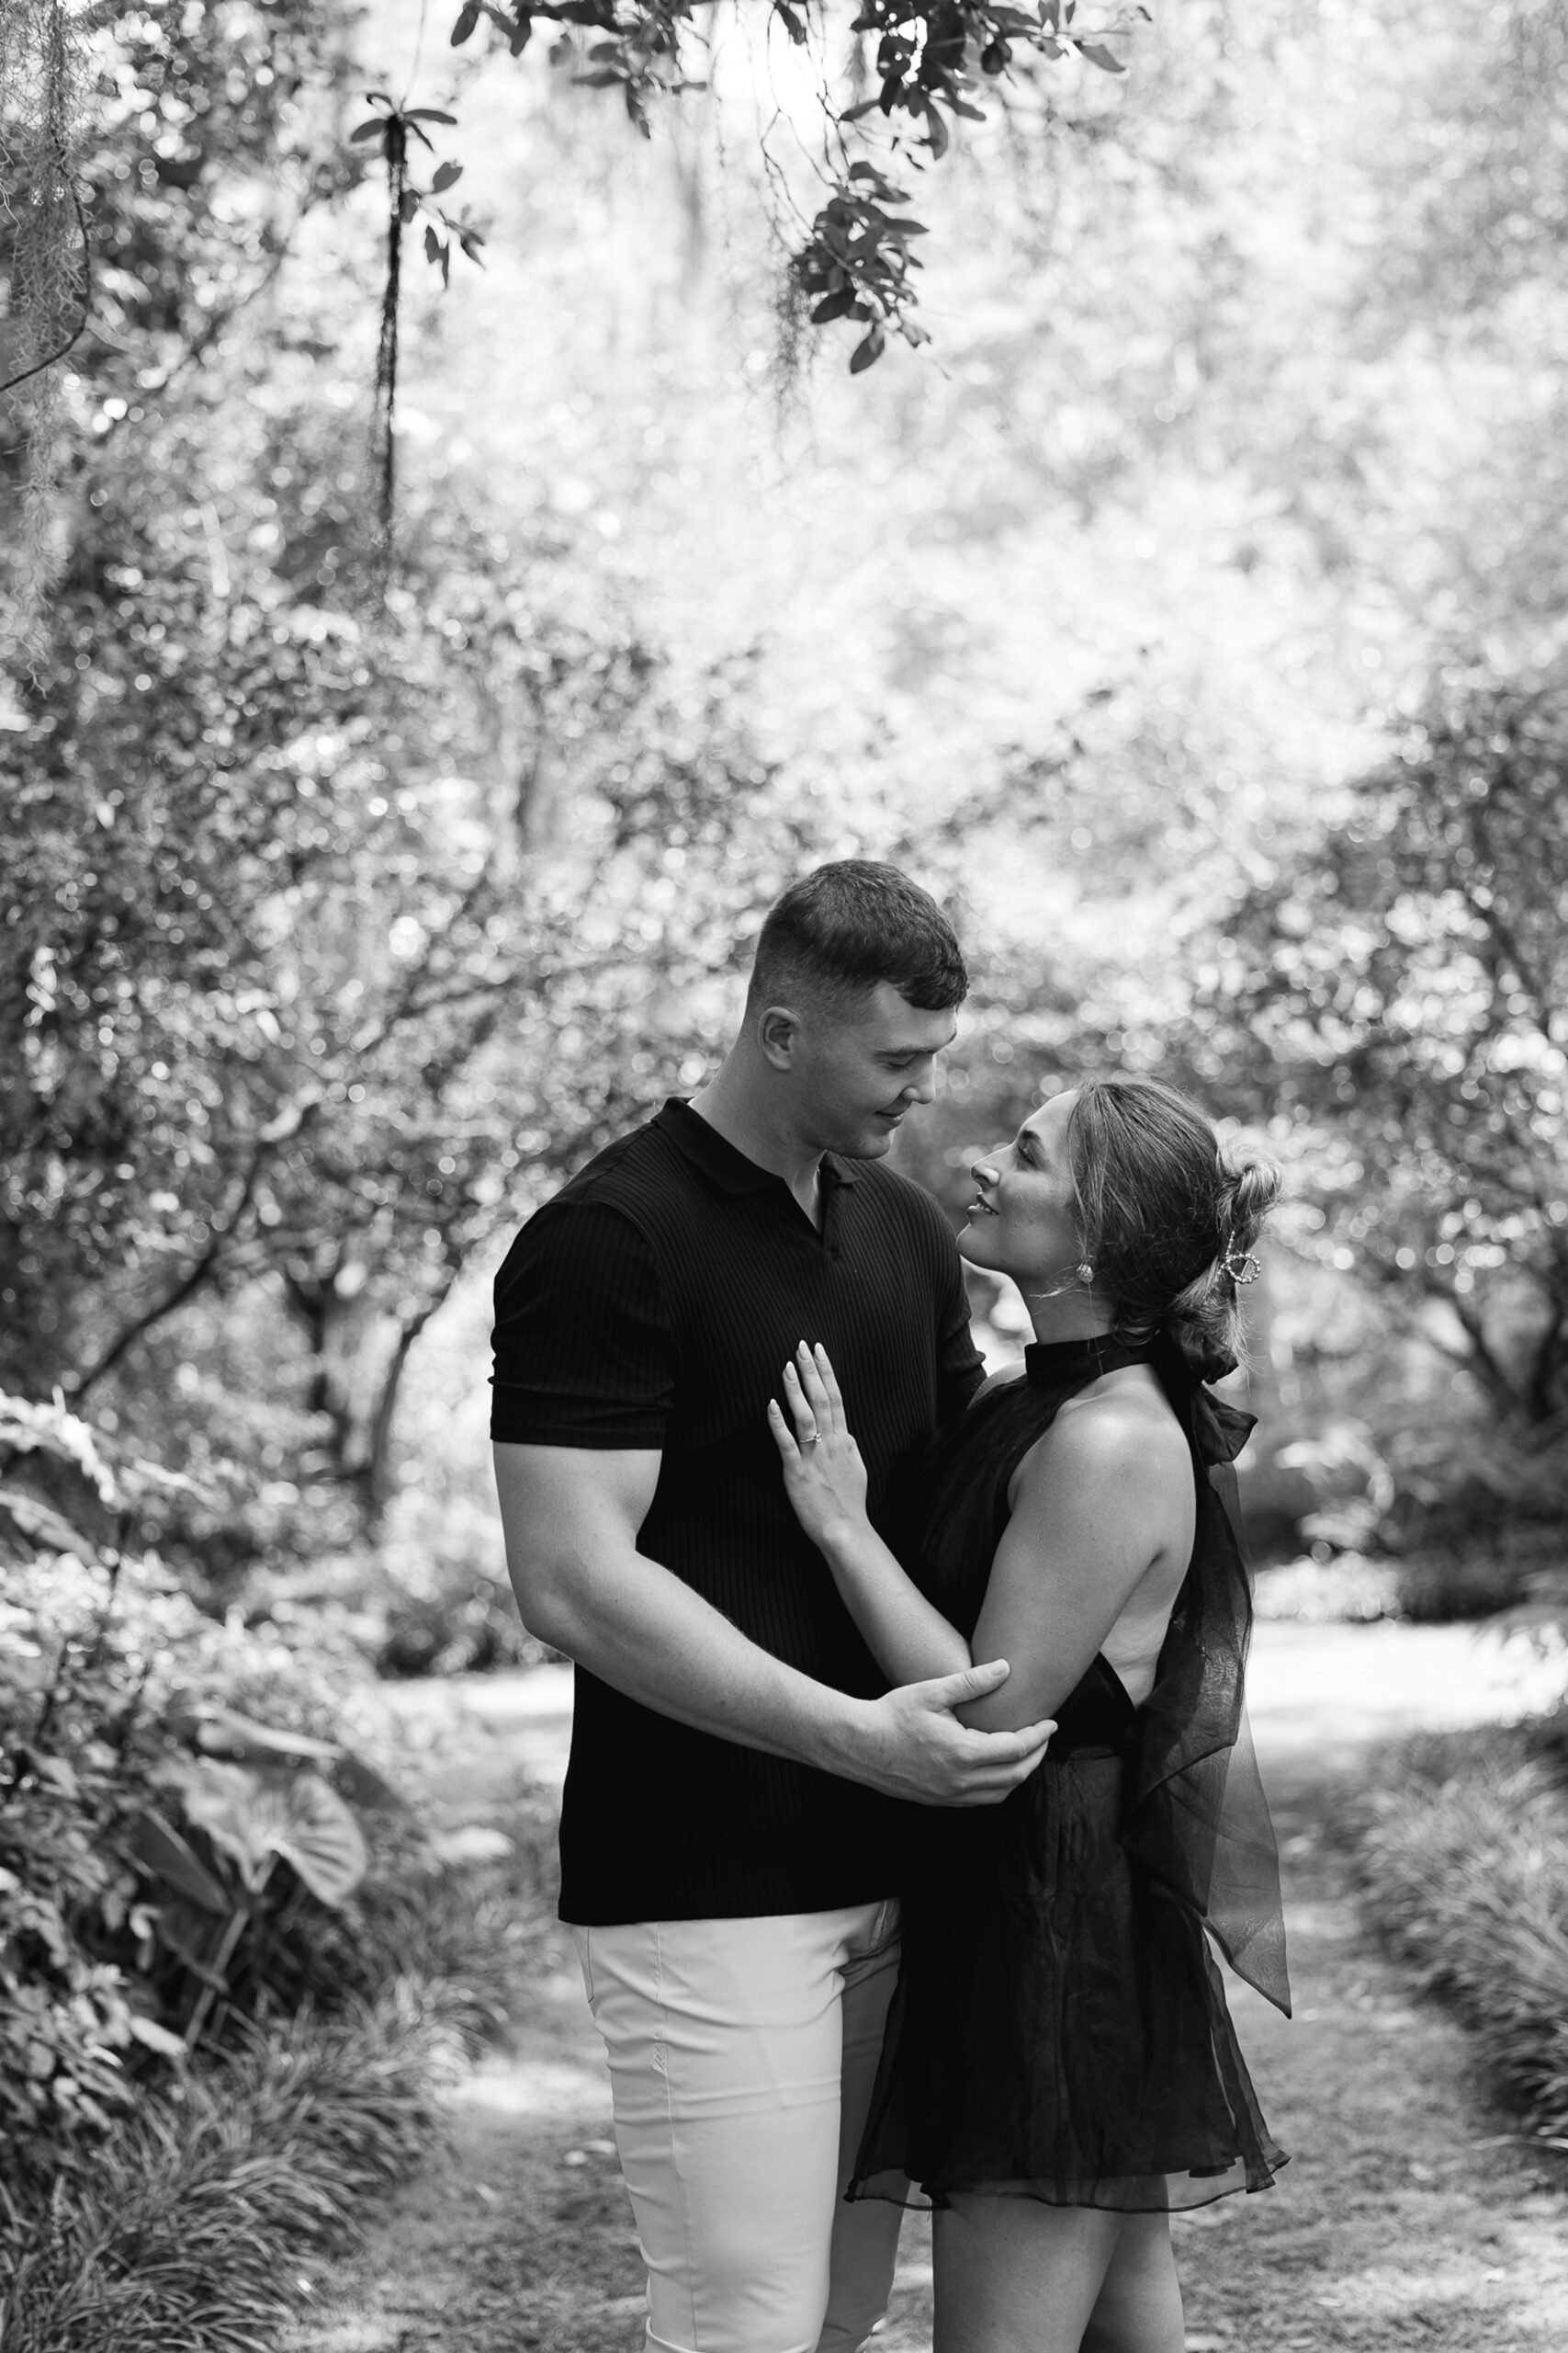
[{"label": "woman's forearm and hand resting flat on the man's chest", "polygon": [[769,1428],[785,1489],[877,1666],[896,1685],[971,1666],[964,1635],[910,1584],[865,1518],[865,1464],[827,1351],[802,1341],[783,1379],[795,1426],[769,1402]]}]

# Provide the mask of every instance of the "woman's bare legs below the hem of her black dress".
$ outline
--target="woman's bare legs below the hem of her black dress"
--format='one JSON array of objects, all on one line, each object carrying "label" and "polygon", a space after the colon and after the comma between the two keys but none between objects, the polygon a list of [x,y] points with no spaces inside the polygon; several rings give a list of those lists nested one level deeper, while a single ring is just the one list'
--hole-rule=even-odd
[{"label": "woman's bare legs below the hem of her black dress", "polygon": [[936,2353],[1182,2353],[1164,2214],[954,2195],[936,2217]]}]

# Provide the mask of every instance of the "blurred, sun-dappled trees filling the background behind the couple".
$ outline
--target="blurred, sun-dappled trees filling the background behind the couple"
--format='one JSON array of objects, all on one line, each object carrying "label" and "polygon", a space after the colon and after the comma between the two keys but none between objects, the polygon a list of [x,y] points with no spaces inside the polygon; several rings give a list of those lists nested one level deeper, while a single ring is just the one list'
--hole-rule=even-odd
[{"label": "blurred, sun-dappled trees filling the background behind the couple", "polygon": [[[882,19],[705,12],[642,139],[595,26],[447,14],[75,16],[0,1381],[195,1478],[146,1529],[205,1598],[491,1657],[505,1235],[701,1080],[769,896],[884,854],[978,984],[910,1169],[957,1205],[1105,1061],[1262,1129],[1260,1532],[1509,1598],[1568,1402],[1561,0],[1185,0],[929,172],[867,118],[933,344],[856,379],[790,254]],[[367,89],[456,115],[484,231],[404,275],[390,572]]]}]

